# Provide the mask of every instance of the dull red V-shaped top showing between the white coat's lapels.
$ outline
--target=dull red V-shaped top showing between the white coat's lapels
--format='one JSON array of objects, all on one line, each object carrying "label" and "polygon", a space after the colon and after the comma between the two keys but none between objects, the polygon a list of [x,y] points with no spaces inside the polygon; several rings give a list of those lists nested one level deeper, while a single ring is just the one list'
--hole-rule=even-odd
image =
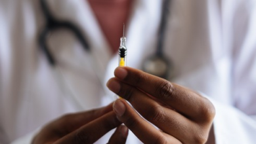
[{"label": "dull red V-shaped top showing between the white coat's lapels", "polygon": [[129,24],[129,15],[133,0],[88,0],[96,20],[110,45],[112,54],[116,54],[123,35],[123,24]]}]

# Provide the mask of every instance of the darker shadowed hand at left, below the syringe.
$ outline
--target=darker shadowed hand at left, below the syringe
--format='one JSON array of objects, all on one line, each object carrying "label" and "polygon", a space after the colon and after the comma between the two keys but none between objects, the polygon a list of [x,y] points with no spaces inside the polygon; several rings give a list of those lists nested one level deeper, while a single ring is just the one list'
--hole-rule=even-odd
[{"label": "darker shadowed hand at left, below the syringe", "polygon": [[125,143],[128,129],[120,124],[110,104],[107,107],[69,114],[54,120],[35,136],[33,144],[94,143],[117,126],[108,143]]}]

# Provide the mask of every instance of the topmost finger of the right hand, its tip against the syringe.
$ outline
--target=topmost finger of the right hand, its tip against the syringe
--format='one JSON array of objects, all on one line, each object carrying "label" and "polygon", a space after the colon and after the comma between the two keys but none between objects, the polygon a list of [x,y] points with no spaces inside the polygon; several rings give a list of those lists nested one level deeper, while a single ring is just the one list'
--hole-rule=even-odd
[{"label": "topmost finger of the right hand, its tip against the syringe", "polygon": [[115,76],[170,105],[186,117],[198,118],[198,120],[202,118],[211,120],[214,117],[215,109],[211,102],[188,88],[131,67],[117,67]]}]

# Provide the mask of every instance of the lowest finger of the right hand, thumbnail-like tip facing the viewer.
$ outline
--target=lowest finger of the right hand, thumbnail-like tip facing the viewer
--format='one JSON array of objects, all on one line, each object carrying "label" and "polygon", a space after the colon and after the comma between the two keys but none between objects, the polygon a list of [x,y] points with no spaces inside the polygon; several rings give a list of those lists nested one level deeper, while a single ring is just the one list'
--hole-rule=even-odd
[{"label": "lowest finger of the right hand, thumbnail-like tip facing the viewer", "polygon": [[117,118],[135,134],[142,143],[181,143],[171,135],[157,130],[140,117],[124,99],[117,99],[113,105]]}]

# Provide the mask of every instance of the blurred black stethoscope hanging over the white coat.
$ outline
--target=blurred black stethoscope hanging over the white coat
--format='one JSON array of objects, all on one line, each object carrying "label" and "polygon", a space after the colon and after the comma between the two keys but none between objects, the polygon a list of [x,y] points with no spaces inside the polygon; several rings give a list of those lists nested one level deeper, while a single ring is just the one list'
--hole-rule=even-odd
[{"label": "blurred black stethoscope hanging over the white coat", "polygon": [[[152,75],[156,75],[158,77],[162,77],[164,79],[169,79],[172,77],[170,75],[172,67],[172,63],[168,60],[168,58],[163,54],[163,42],[165,39],[165,29],[167,25],[167,15],[169,14],[169,4],[171,0],[163,1],[163,9],[161,14],[161,23],[160,30],[158,33],[158,45],[156,46],[156,52],[152,56],[149,56],[142,62],[142,70],[146,73],[150,73]],[[53,55],[49,51],[49,47],[47,46],[46,40],[47,35],[51,33],[51,31],[55,31],[57,29],[69,29],[72,31],[83,46],[83,49],[86,52],[91,51],[91,47],[87,43],[85,37],[81,33],[80,29],[76,27],[72,22],[60,21],[56,20],[54,16],[51,14],[51,10],[47,5],[46,0],[40,0],[40,5],[43,10],[43,15],[46,19],[46,26],[41,31],[39,35],[39,47],[47,57],[48,62],[55,67],[56,60],[54,60]]]}]

